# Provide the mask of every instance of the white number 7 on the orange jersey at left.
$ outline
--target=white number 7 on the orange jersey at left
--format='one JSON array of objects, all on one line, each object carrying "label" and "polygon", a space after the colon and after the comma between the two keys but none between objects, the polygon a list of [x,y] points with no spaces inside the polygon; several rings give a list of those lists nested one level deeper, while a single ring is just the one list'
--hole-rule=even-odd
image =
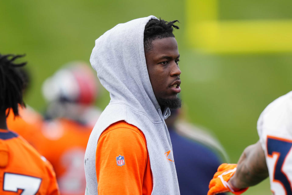
[{"label": "white number 7 on the orange jersey at left", "polygon": [[42,179],[37,177],[19,175],[14,173],[4,173],[3,190],[18,192],[23,190],[21,195],[34,195],[40,188]]}]

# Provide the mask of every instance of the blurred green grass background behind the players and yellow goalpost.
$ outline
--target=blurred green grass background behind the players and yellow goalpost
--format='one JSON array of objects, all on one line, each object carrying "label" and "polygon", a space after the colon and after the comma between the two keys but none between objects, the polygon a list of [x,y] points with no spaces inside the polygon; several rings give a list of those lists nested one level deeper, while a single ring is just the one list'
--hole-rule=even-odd
[{"label": "blurred green grass background behind the players and yellow goalpost", "polygon": [[[289,19],[290,1],[218,1],[218,18]],[[8,1],[0,2],[0,53],[26,53],[32,74],[26,103],[45,107],[40,88],[61,65],[89,63],[94,41],[117,23],[155,15],[178,19],[183,109],[190,122],[210,129],[236,163],[243,149],[258,140],[256,122],[275,98],[292,90],[292,53],[207,54],[188,47],[185,2],[181,1]],[[109,95],[101,90],[97,105]],[[268,180],[245,194],[271,194]]]}]

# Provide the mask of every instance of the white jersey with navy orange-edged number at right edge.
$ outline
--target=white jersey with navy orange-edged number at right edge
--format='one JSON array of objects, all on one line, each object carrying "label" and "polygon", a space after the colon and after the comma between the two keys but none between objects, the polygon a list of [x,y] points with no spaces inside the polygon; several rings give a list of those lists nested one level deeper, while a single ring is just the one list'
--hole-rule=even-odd
[{"label": "white jersey with navy orange-edged number at right edge", "polygon": [[257,129],[266,155],[272,192],[292,195],[292,91],[265,108]]}]

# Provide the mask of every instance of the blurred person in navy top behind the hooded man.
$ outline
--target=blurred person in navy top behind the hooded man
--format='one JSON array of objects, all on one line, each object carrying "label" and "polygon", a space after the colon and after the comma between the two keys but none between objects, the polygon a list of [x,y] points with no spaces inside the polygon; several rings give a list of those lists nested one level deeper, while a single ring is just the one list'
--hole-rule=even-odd
[{"label": "blurred person in navy top behind the hooded man", "polygon": [[[181,109],[165,119],[176,163],[181,195],[206,195],[210,179],[222,160],[228,160],[221,144],[207,132],[178,121]],[[223,159],[222,159],[223,158]]]}]

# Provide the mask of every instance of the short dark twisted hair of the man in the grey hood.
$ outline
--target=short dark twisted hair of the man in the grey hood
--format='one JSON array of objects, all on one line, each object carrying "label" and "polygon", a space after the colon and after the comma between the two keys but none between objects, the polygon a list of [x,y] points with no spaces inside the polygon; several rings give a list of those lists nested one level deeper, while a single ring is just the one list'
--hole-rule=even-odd
[{"label": "short dark twisted hair of the man in the grey hood", "polygon": [[152,49],[152,41],[155,39],[162,39],[167,37],[174,37],[172,33],[173,27],[179,29],[178,26],[173,23],[179,22],[174,20],[167,22],[161,18],[159,19],[150,19],[145,26],[144,30],[144,51],[148,52]]}]

